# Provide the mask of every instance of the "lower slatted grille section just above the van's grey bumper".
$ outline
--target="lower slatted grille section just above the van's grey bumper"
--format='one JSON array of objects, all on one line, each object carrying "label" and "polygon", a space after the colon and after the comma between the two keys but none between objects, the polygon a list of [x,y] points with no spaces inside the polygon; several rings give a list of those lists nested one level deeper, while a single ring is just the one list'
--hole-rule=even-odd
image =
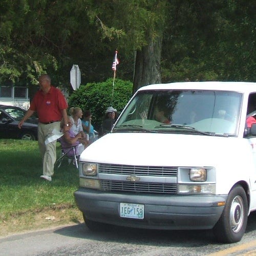
[{"label": "lower slatted grille section just above the van's grey bumper", "polygon": [[100,187],[104,191],[129,191],[144,193],[164,193],[176,194],[176,184],[166,183],[147,183],[147,182],[127,182],[100,180]]}]

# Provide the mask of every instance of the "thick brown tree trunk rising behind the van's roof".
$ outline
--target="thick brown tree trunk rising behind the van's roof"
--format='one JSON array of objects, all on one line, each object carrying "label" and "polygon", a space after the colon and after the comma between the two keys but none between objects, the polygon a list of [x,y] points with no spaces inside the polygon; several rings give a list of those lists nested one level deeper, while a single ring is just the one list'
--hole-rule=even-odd
[{"label": "thick brown tree trunk rising behind the van's roof", "polygon": [[158,38],[152,39],[141,51],[136,52],[133,93],[142,86],[161,82],[161,48],[162,38]]}]

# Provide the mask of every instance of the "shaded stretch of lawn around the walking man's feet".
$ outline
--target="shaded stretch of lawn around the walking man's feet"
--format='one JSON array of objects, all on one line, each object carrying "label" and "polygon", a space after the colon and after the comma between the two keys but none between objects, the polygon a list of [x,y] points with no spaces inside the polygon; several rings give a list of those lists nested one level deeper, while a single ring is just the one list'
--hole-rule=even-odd
[{"label": "shaded stretch of lawn around the walking man's feet", "polygon": [[[59,168],[54,168],[53,181],[40,179],[42,159],[37,141],[0,140],[0,175],[1,185],[17,186],[31,184],[78,184],[78,170],[68,161],[63,160]],[[60,146],[57,145],[57,158]]]}]

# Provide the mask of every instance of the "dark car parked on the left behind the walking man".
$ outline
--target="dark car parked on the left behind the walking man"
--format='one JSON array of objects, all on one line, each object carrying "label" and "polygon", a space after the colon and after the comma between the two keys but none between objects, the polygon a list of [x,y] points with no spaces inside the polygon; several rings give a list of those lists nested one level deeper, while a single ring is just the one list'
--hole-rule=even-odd
[{"label": "dark car parked on the left behind the walking man", "polygon": [[0,105],[0,138],[37,140],[38,118],[31,116],[19,129],[18,122],[24,117],[26,110],[18,106]]}]

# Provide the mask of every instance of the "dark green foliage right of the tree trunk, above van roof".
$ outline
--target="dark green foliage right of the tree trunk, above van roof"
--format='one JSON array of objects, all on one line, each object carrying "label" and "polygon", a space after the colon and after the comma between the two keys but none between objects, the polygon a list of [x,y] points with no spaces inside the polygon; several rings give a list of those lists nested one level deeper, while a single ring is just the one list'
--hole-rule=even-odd
[{"label": "dark green foliage right of the tree trunk, above van roof", "polygon": [[162,80],[254,81],[254,1],[174,1]]}]

